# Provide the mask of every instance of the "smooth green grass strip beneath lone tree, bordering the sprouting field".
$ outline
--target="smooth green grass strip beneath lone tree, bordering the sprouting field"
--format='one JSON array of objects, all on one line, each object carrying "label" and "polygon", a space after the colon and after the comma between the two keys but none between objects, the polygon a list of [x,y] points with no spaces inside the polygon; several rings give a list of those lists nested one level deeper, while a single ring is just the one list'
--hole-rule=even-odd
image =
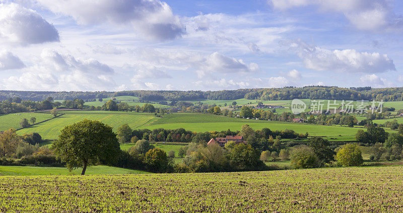
[{"label": "smooth green grass strip beneath lone tree, bordering the sprouting field", "polygon": [[[0,166],[0,175],[78,175],[81,174],[81,168],[69,172],[65,167],[36,167],[36,166]],[[148,172],[132,169],[123,169],[110,166],[91,166],[88,167],[85,174],[88,175],[107,175],[107,174],[144,174]]]}]

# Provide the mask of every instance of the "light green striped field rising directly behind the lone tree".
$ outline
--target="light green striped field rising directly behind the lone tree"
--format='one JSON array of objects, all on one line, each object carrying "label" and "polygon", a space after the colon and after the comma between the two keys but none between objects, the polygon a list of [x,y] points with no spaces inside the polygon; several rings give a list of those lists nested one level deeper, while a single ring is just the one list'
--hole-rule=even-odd
[{"label": "light green striped field rising directly behind the lone tree", "polygon": [[30,132],[38,132],[44,139],[55,139],[58,137],[60,130],[66,126],[79,122],[85,118],[102,121],[113,127],[113,130],[124,123],[128,123],[130,127],[136,128],[155,116],[151,113],[131,113],[131,112],[110,112],[110,111],[65,111],[62,116],[46,121],[44,123],[35,124],[30,128],[18,130],[18,134]]}]

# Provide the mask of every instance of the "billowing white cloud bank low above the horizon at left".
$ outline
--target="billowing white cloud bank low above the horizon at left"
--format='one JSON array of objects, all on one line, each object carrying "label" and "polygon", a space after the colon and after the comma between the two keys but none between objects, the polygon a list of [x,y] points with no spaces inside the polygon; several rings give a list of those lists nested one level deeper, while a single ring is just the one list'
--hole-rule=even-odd
[{"label": "billowing white cloud bank low above the horizon at left", "polygon": [[10,90],[94,91],[115,87],[114,70],[95,59],[75,58],[44,49],[38,62],[26,67],[21,76],[3,81]]}]

